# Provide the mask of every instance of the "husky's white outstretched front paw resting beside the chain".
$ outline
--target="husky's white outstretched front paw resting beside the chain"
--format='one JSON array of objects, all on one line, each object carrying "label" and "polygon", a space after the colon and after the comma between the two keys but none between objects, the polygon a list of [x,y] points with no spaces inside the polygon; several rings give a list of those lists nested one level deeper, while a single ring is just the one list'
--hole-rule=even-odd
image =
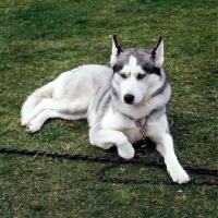
[{"label": "husky's white outstretched front paw resting beside the chain", "polygon": [[179,184],[187,183],[190,181],[189,174],[182,169],[180,164],[167,167],[167,170],[172,178],[173,182]]}]

